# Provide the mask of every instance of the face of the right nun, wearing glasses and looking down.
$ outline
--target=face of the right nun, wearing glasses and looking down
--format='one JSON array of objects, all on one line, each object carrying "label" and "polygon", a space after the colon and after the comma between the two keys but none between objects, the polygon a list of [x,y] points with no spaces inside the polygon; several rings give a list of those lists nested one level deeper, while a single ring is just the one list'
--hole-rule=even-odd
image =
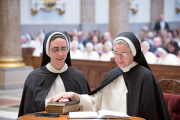
[{"label": "face of the right nun, wearing glasses and looking down", "polygon": [[[116,64],[120,67],[120,68],[125,68],[127,66],[129,66],[134,59],[134,56],[131,53],[131,50],[129,48],[129,46],[125,45],[125,44],[116,44],[114,46],[114,52],[118,53],[119,56],[114,55]],[[123,56],[122,53],[127,53],[127,56]]]}]

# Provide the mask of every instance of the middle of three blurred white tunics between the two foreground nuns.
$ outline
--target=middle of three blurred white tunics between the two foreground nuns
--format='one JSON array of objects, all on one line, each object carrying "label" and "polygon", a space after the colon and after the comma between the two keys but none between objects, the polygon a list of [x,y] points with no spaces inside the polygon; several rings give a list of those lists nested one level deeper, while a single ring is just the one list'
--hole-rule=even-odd
[{"label": "middle of three blurred white tunics between the two foreground nuns", "polygon": [[84,60],[99,60],[99,54],[95,51],[91,51],[90,53],[85,51],[83,53],[83,59]]}]

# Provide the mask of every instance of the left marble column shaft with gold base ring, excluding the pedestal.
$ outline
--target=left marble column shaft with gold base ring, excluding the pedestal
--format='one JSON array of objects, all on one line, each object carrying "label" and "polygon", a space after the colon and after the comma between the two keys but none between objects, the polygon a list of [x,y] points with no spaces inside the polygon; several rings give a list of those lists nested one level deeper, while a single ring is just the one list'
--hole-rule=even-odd
[{"label": "left marble column shaft with gold base ring, excluding the pedestal", "polygon": [[23,67],[20,0],[0,0],[0,68]]}]

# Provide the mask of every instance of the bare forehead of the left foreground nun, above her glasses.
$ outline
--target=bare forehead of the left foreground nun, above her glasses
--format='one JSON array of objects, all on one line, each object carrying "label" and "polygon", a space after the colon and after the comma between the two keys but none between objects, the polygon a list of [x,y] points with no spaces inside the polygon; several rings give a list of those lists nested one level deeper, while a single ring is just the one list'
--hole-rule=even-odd
[{"label": "bare forehead of the left foreground nun, above her glasses", "polygon": [[66,40],[63,38],[56,38],[55,40],[50,41],[50,47],[67,47]]}]

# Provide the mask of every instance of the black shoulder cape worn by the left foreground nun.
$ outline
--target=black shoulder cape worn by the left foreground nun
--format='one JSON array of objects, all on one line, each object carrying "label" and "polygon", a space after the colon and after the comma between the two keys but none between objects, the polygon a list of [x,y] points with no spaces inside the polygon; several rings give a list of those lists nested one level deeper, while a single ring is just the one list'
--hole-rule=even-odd
[{"label": "black shoulder cape worn by the left foreground nun", "polygon": [[65,72],[58,74],[50,72],[43,66],[32,71],[27,77],[18,116],[45,111],[45,98],[58,75],[63,80],[66,92],[73,91],[78,94],[90,92],[81,71],[69,66]]}]

